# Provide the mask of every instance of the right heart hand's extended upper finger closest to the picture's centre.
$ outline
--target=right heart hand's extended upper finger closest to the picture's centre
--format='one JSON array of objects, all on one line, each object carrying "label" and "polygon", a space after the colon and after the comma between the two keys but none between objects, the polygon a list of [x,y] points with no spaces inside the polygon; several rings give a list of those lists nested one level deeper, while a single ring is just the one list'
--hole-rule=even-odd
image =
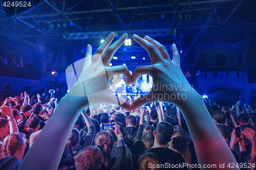
[{"label": "right heart hand's extended upper finger closest to the picture's centre", "polygon": [[147,51],[148,55],[150,55],[152,64],[155,64],[157,60],[163,59],[160,53],[158,52],[157,47],[151,42],[137,36],[136,34],[133,35],[133,39]]}]

